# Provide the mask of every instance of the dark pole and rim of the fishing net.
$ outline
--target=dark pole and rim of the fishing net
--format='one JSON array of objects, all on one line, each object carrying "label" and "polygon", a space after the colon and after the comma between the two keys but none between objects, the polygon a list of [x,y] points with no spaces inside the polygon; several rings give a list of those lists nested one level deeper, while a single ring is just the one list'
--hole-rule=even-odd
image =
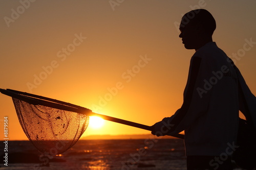
[{"label": "dark pole and rim of the fishing net", "polygon": [[[120,119],[120,118],[116,118],[116,117],[111,117],[111,116],[106,116],[106,115],[99,114],[99,113],[94,113],[90,109],[87,109],[87,108],[84,108],[84,107],[81,107],[81,106],[77,106],[77,105],[74,105],[74,104],[71,104],[71,103],[66,103],[66,102],[55,100],[55,99],[46,98],[46,97],[40,96],[40,95],[35,95],[35,94],[22,92],[22,91],[17,91],[17,90],[12,90],[12,89],[6,89],[5,90],[5,89],[0,88],[0,91],[3,94],[11,96],[12,98],[16,98],[16,99],[25,101],[25,102],[33,104],[33,105],[43,105],[43,106],[52,107],[52,108],[56,108],[56,109],[61,109],[61,110],[86,114],[86,115],[89,115],[89,116],[99,116],[99,117],[101,117],[105,120],[109,120],[111,122],[116,122],[116,123],[119,123],[119,124],[128,125],[128,126],[148,130],[148,131],[152,131],[153,128],[154,128],[153,126],[146,126],[146,125],[138,124],[138,123],[131,122],[131,121],[128,121],[128,120],[124,120],[124,119]],[[20,94],[23,94],[23,95],[20,95]],[[24,96],[24,95],[27,95],[27,96]],[[39,98],[39,99],[35,99],[35,98]],[[51,101],[51,102],[48,102],[48,101],[45,101],[45,100],[48,100],[48,101]],[[182,134],[175,134],[175,135],[172,135],[172,136],[184,139],[184,135],[182,135]]]}]

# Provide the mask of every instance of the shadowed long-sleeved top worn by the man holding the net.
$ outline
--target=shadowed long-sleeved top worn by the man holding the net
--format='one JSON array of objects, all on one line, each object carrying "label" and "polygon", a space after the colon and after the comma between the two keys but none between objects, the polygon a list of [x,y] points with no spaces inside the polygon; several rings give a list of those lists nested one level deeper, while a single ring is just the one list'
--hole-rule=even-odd
[{"label": "shadowed long-sleeved top worn by the man holding the net", "polygon": [[187,156],[230,153],[228,147],[236,143],[238,132],[238,89],[233,62],[215,42],[191,57],[183,104],[163,119],[173,125],[168,135],[185,130]]}]

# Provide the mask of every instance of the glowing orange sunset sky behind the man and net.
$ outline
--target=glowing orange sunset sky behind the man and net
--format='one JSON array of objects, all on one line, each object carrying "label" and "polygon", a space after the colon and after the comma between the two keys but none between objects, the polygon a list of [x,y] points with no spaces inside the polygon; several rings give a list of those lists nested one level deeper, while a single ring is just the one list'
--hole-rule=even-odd
[{"label": "glowing orange sunset sky behind the man and net", "polygon": [[[151,126],[182,105],[195,51],[178,27],[199,7],[215,17],[214,41],[256,94],[256,1],[242,0],[0,1],[0,88]],[[11,98],[1,94],[0,107],[0,140],[4,116],[9,139],[27,140]],[[146,133],[105,121],[82,137]]]}]

